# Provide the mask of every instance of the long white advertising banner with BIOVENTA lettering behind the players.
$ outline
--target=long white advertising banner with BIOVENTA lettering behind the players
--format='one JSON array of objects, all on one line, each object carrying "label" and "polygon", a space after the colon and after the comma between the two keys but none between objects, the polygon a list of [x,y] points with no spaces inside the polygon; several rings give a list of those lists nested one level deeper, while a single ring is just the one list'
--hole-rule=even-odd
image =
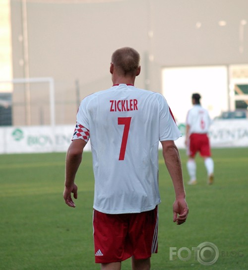
[{"label": "long white advertising banner with BIOVENTA lettering behind the players", "polygon": [[[176,144],[185,148],[185,124],[178,126],[183,136]],[[65,152],[73,131],[73,125],[3,127],[0,128],[0,154]],[[209,137],[212,147],[248,147],[248,120],[215,120]],[[91,150],[89,142],[85,150]]]}]

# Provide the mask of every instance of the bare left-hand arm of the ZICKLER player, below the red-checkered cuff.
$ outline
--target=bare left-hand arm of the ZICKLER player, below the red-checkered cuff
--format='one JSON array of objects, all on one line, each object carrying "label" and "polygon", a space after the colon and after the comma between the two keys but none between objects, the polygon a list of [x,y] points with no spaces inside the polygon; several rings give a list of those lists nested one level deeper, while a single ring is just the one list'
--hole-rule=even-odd
[{"label": "bare left-hand arm of the ZICKLER player, below the red-checkered cuff", "polygon": [[74,180],[82,161],[83,148],[86,143],[87,142],[83,139],[75,139],[71,142],[67,150],[63,199],[70,207],[75,207],[75,203],[71,198],[71,193],[73,193],[74,199],[77,199],[77,186],[74,183]]}]

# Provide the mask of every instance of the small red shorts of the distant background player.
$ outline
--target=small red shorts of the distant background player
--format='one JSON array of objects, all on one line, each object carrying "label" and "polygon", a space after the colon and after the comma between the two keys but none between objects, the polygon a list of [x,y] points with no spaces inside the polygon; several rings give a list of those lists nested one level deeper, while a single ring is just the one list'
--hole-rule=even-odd
[{"label": "small red shorts of the distant background player", "polygon": [[197,152],[200,152],[201,156],[211,156],[210,143],[207,134],[192,133],[189,136],[189,149],[188,155],[194,157]]}]

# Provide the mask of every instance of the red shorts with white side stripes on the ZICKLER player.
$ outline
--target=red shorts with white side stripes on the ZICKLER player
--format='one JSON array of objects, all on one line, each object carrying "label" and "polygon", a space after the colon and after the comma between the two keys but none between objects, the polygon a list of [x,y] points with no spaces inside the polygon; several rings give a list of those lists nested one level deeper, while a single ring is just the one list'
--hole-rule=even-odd
[{"label": "red shorts with white side stripes on the ZICKLER player", "polygon": [[93,211],[95,262],[147,259],[158,251],[158,207],[151,211],[105,214]]}]

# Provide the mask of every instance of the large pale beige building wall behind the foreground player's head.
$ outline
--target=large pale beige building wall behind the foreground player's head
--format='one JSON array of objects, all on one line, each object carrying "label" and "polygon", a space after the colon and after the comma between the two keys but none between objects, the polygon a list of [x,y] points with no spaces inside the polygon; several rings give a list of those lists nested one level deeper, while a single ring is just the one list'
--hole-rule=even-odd
[{"label": "large pale beige building wall behind the foreground player's head", "polygon": [[163,67],[248,64],[248,25],[243,41],[240,32],[247,0],[27,0],[28,63],[22,2],[10,3],[13,76],[28,67],[30,77],[55,79],[56,101],[67,104],[57,109],[58,124],[74,123],[76,80],[80,98],[111,86],[110,58],[119,47],[140,52],[136,86],[158,92]]}]

